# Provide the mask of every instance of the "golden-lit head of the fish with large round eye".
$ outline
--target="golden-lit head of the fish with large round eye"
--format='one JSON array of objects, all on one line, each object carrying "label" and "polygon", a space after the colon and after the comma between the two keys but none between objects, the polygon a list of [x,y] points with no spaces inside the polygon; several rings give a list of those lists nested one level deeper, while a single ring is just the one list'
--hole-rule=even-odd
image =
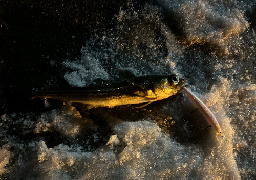
[{"label": "golden-lit head of the fish with large round eye", "polygon": [[155,92],[158,96],[167,98],[181,92],[185,82],[185,79],[177,75],[163,76],[159,81],[154,82]]}]

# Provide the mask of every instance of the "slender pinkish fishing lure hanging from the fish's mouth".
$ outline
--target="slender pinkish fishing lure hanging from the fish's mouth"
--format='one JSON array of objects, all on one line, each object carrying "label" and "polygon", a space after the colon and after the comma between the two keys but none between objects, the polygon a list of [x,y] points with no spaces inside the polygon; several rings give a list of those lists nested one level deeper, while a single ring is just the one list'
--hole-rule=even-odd
[{"label": "slender pinkish fishing lure hanging from the fish's mouth", "polygon": [[[214,113],[212,113],[210,111],[210,109],[195,94],[193,94],[190,90],[188,90],[185,86],[183,86],[182,89],[187,94],[189,99],[193,102],[193,104],[199,109],[199,111],[204,116],[204,118],[207,120],[209,125],[214,129],[216,134],[218,134],[222,138],[224,138],[223,134],[222,134],[221,126],[220,126],[218,120],[216,119]],[[226,138],[224,138],[224,139],[226,140]]]}]

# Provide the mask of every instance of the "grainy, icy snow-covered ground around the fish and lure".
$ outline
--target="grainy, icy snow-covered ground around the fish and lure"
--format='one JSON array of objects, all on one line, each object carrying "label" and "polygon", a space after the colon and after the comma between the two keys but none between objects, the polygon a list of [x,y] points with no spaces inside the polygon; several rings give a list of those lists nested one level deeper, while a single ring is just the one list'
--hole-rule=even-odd
[{"label": "grainy, icy snow-covered ground around the fish and lure", "polygon": [[80,58],[62,60],[59,71],[72,86],[118,81],[118,68],[178,74],[229,142],[207,128],[184,92],[142,109],[84,110],[49,100],[44,112],[1,116],[2,178],[256,179],[256,38],[245,17],[253,5],[128,1],[114,28],[88,38]]}]

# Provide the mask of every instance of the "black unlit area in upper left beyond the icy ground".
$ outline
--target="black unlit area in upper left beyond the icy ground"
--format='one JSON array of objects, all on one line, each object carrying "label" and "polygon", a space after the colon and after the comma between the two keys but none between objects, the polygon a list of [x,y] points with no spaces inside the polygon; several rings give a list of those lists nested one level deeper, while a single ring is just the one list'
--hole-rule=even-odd
[{"label": "black unlit area in upper left beyond the icy ground", "polygon": [[1,1],[0,114],[18,108],[20,97],[35,89],[65,84],[58,68],[62,60],[80,57],[84,41],[110,29],[122,5],[122,1]]}]

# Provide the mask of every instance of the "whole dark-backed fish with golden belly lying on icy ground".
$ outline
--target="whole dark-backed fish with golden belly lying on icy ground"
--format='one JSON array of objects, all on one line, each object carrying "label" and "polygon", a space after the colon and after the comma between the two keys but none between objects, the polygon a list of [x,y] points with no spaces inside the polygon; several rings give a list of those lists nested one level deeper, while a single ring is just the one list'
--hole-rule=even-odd
[{"label": "whole dark-backed fish with golden belly lying on icy ground", "polygon": [[106,83],[97,79],[96,84],[87,87],[75,87],[71,90],[45,91],[31,97],[57,99],[68,103],[87,104],[90,108],[115,107],[145,103],[136,107],[143,108],[154,101],[166,99],[183,91],[182,86],[186,82],[177,75],[148,75],[135,76],[127,70],[118,69],[122,81],[118,83]]}]

